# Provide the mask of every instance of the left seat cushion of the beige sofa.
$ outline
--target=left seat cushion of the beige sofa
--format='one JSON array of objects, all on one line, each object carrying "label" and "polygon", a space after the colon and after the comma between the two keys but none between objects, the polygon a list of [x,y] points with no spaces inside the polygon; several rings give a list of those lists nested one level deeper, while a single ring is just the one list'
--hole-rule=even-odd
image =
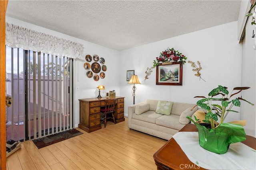
[{"label": "left seat cushion of the beige sofa", "polygon": [[[146,121],[149,123],[156,123],[156,119],[163,115],[155,113],[155,111],[146,111],[140,115],[136,115],[135,113],[132,114],[133,119]],[[179,121],[179,120],[178,120]]]}]

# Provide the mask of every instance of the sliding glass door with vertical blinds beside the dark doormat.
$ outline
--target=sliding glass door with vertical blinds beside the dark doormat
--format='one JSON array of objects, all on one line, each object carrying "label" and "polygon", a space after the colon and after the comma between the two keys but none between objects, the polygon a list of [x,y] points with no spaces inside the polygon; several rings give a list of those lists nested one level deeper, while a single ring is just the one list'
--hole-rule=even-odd
[{"label": "sliding glass door with vertical blinds beside the dark doormat", "polygon": [[30,140],[74,128],[72,70],[68,57],[6,46],[6,95],[13,100],[6,109],[12,122],[8,139]]}]

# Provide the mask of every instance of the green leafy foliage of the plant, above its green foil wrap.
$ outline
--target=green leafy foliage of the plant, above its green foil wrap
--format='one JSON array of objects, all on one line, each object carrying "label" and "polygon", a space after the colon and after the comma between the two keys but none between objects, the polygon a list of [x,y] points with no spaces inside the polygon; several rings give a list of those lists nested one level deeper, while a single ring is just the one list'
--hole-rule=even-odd
[{"label": "green leafy foliage of the plant, above its green foil wrap", "polygon": [[[250,105],[254,106],[251,102],[248,102],[247,100],[243,99],[242,97],[234,98],[234,95],[239,94],[242,90],[247,90],[250,87],[235,87],[232,92],[229,94],[226,87],[218,86],[217,88],[214,88],[209,94],[208,98],[204,96],[196,96],[194,98],[203,98],[201,100],[198,100],[196,104],[202,109],[207,110],[208,112],[205,115],[205,120],[203,120],[206,123],[211,124],[211,128],[214,129],[218,127],[221,123],[224,123],[224,120],[228,113],[230,112],[238,112],[235,110],[232,110],[233,106],[240,107],[241,102],[240,100],[243,100]],[[220,96],[220,97],[217,97]],[[220,117],[220,122],[216,123],[218,121],[218,117]]]}]

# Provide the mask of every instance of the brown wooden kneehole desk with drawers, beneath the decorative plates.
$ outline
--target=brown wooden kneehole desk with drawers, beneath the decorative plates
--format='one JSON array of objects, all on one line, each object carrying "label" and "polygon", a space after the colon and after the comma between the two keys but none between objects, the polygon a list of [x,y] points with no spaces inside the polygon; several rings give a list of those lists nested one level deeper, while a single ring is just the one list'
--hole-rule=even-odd
[{"label": "brown wooden kneehole desk with drawers, beneath the decorative plates", "polygon": [[117,99],[114,116],[116,123],[124,121],[124,97],[103,97],[79,99],[79,124],[78,127],[90,133],[101,129],[100,107],[106,105],[105,100]]}]

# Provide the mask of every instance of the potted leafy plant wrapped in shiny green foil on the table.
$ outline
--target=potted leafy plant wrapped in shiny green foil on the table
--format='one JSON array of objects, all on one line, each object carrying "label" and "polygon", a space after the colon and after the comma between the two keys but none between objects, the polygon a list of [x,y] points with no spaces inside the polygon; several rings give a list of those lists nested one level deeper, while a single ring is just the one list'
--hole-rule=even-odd
[{"label": "potted leafy plant wrapped in shiny green foil on the table", "polygon": [[[242,90],[247,90],[249,88],[250,87],[235,87],[231,94],[229,94],[226,87],[219,85],[208,94],[208,97],[195,97],[202,98],[201,100],[198,100],[196,104],[206,110],[206,113],[202,113],[204,119],[199,120],[195,116],[194,121],[194,119],[189,116],[187,116],[187,118],[196,125],[199,135],[199,144],[202,148],[218,154],[224,154],[227,152],[231,143],[241,142],[246,139],[246,134],[242,126],[245,125],[244,121],[224,123],[224,120],[228,113],[238,112],[233,110],[232,107],[240,107],[240,100],[254,106],[254,104],[242,97],[233,97]],[[217,122],[218,117],[220,118],[219,122]],[[208,123],[210,128],[206,128],[204,125],[198,123],[198,121]]]}]

